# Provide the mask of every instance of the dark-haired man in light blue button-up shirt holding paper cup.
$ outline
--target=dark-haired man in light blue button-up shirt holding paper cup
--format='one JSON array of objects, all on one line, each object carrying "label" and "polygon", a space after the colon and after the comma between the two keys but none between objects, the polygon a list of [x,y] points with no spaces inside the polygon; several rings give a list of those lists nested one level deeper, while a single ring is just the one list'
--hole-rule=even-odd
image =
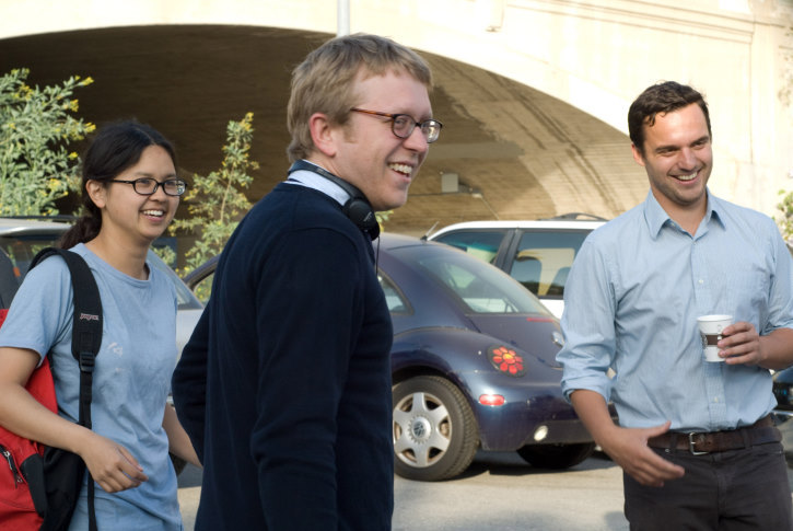
[{"label": "dark-haired man in light blue button-up shirt holding paper cup", "polygon": [[[708,191],[712,136],[699,92],[650,86],[628,125],[650,193],[576,256],[563,391],[625,471],[631,529],[793,529],[768,416],[769,369],[793,362],[791,256],[770,218]],[[705,314],[734,316],[718,344],[723,362],[703,358]]]}]

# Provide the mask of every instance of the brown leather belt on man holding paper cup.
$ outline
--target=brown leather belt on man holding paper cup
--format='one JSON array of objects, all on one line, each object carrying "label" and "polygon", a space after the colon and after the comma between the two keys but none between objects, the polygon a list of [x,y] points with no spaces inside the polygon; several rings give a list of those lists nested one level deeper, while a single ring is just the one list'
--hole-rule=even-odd
[{"label": "brown leather belt on man holding paper cup", "polygon": [[739,450],[755,445],[779,442],[782,434],[774,427],[771,416],[766,416],[745,428],[724,431],[667,431],[648,440],[648,446],[666,450],[686,450],[695,455],[711,452]]}]

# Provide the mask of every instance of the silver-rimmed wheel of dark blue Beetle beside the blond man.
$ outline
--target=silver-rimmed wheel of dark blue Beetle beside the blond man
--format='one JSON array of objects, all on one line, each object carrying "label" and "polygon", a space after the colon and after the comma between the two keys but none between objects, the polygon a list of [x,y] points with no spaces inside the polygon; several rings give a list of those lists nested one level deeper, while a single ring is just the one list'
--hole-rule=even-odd
[{"label": "silver-rimmed wheel of dark blue Beetle beside the blond man", "polygon": [[448,380],[417,377],[394,396],[394,467],[408,480],[440,481],[460,474],[479,446],[476,418]]}]

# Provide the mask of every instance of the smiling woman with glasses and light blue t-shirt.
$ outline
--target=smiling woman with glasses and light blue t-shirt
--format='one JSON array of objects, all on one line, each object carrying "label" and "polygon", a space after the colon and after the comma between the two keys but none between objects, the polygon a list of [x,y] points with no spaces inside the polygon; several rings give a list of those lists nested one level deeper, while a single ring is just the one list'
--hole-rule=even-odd
[{"label": "smiling woman with glasses and light blue t-shirt", "polygon": [[[75,424],[80,370],[71,353],[73,303],[62,259],[45,259],[27,274],[0,328],[0,423],[83,459],[95,481],[101,530],[180,530],[168,448],[198,464],[166,406],[177,357],[176,293],[166,276],[147,263],[151,243],[173,219],[185,187],[171,143],[147,125],[109,125],[85,153],[85,213],[60,246],[85,259],[102,299],[92,430]],[[24,389],[48,353],[59,415]],[[89,529],[89,481],[86,475],[70,529]]]}]

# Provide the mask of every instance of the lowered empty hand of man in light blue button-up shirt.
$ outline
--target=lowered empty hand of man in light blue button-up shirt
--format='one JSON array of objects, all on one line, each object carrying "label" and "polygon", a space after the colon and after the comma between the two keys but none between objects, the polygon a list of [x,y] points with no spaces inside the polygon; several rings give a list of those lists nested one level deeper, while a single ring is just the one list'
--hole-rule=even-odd
[{"label": "lowered empty hand of man in light blue button-up shirt", "polygon": [[683,477],[685,470],[655,453],[648,447],[652,437],[669,429],[668,420],[653,428],[608,429],[599,440],[600,448],[615,463],[642,485],[663,487],[664,482]]}]

